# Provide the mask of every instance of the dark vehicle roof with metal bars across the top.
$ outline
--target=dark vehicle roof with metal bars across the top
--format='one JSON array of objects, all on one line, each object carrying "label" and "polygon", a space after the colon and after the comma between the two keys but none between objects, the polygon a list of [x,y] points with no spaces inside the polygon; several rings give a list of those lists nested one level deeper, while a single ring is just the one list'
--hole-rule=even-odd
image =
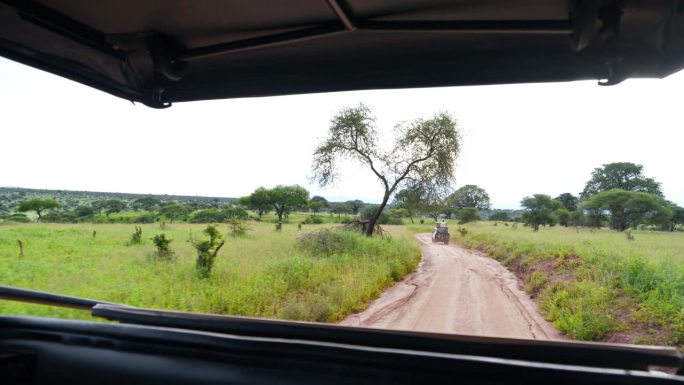
[{"label": "dark vehicle roof with metal bars across the top", "polygon": [[0,55],[151,107],[664,77],[680,0],[0,0]]}]

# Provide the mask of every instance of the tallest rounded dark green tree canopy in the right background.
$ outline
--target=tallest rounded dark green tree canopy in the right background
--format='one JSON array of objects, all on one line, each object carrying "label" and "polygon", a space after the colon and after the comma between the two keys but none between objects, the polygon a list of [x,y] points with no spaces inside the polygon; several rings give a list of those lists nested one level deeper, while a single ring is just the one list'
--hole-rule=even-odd
[{"label": "tallest rounded dark green tree canopy in the right background", "polygon": [[660,183],[643,174],[644,166],[630,162],[616,162],[597,167],[591,179],[584,186],[581,197],[587,199],[594,194],[612,189],[646,192],[662,196]]}]

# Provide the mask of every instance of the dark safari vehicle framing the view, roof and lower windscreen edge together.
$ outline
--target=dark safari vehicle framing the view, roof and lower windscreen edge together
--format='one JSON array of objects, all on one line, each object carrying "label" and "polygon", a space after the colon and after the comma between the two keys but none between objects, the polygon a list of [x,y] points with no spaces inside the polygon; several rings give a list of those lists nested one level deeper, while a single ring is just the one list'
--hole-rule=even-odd
[{"label": "dark safari vehicle framing the view, roof and lower windscreen edge together", "polygon": [[[152,108],[361,89],[607,86],[684,67],[684,2],[0,0],[0,55]],[[650,371],[684,374],[673,348],[190,314],[11,287],[0,298],[118,322],[0,316],[3,384],[684,383]]]}]

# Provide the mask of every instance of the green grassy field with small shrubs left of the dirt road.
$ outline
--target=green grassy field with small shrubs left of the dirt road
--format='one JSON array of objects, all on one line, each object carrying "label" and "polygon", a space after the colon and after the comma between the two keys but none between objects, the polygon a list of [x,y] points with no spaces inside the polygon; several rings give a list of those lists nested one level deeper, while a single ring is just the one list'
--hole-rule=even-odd
[{"label": "green grassy field with small shrubs left of the dirt road", "polygon": [[[391,240],[346,235],[338,240],[342,247],[326,253],[298,246],[297,239],[329,224],[301,231],[286,224],[275,232],[271,223],[251,222],[247,235],[226,237],[211,277],[200,279],[187,240],[205,227],[142,225],[143,244],[126,246],[133,225],[0,225],[0,282],[141,307],[332,322],[362,309],[420,258],[402,226],[389,228]],[[225,225],[220,230],[229,231]],[[174,262],[152,257],[150,238],[160,233],[173,239]],[[0,313],[87,318],[86,312],[11,301],[0,301]]]}]

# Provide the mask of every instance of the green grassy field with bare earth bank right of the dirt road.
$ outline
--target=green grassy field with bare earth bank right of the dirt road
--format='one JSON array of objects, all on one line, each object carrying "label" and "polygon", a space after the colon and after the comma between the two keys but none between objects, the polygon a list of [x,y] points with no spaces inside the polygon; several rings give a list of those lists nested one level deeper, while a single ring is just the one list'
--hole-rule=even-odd
[{"label": "green grassy field with bare earth bank right of the dirt road", "polygon": [[629,240],[607,229],[464,227],[452,239],[516,272],[570,337],[684,346],[684,233],[633,231]]}]

